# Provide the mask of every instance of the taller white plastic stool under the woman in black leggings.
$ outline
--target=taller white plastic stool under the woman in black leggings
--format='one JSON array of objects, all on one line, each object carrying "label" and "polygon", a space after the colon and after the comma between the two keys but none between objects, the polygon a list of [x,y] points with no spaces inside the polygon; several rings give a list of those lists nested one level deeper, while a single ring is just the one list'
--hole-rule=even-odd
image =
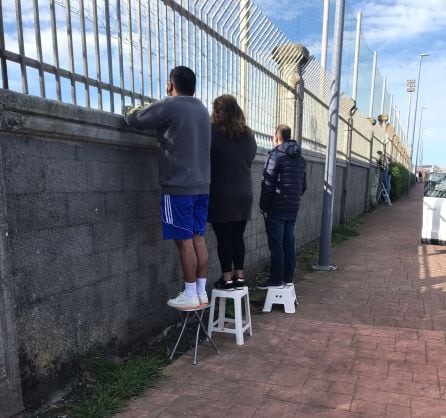
[{"label": "taller white plastic stool under the woman in black leggings", "polygon": [[[215,301],[220,298],[218,305],[218,318],[214,321]],[[226,299],[234,300],[234,316],[235,319],[226,318]],[[245,318],[242,314],[242,303],[245,304]],[[209,313],[208,334],[212,336],[213,332],[226,332],[235,334],[237,345],[243,345],[243,334],[249,330],[249,335],[252,335],[251,326],[251,312],[249,310],[249,293],[248,287],[245,286],[243,290],[212,290],[211,311]],[[234,328],[225,327],[225,324],[234,324]]]}]

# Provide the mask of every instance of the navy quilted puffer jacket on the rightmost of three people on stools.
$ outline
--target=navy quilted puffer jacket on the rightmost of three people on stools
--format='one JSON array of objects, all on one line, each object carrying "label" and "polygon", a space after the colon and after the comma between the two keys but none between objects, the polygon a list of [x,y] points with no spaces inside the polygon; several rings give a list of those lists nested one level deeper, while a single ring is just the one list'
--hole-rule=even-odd
[{"label": "navy quilted puffer jacket on the rightmost of three people on stools", "polygon": [[297,213],[307,189],[306,162],[296,141],[284,141],[269,152],[260,195],[260,210],[268,214]]}]

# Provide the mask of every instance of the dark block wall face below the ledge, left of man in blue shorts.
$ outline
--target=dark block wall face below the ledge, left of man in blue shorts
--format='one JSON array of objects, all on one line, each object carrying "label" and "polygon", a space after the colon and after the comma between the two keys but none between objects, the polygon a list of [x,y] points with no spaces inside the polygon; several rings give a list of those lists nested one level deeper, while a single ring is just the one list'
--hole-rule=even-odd
[{"label": "dark block wall face below the ledge, left of man in blue shorts", "polygon": [[22,135],[2,135],[0,146],[31,393],[96,345],[160,332],[181,275],[174,245],[161,240],[152,150]]}]

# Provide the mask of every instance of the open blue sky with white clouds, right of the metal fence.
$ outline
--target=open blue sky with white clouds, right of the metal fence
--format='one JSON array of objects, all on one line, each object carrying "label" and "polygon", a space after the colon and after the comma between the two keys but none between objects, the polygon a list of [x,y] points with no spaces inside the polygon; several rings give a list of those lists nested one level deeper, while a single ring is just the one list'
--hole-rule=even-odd
[{"label": "open blue sky with white clouds, right of the metal fence", "polygon": [[[323,0],[255,0],[271,19],[293,41],[302,42],[310,53],[320,57]],[[334,26],[335,0],[331,0],[330,36]],[[298,3],[298,7],[296,7]],[[284,14],[283,11],[286,10]],[[423,59],[421,88],[418,99],[415,147],[419,137],[420,111],[423,106],[423,163],[446,168],[446,134],[442,125],[446,109],[446,1],[445,0],[346,0],[343,80],[344,90],[351,88],[354,31],[356,14],[363,13],[361,67],[364,86],[359,93],[367,95],[372,54],[378,53],[381,77],[387,78],[387,91],[394,95],[394,103],[401,112],[406,131],[409,96],[406,81],[418,75],[419,54],[429,53]],[[331,50],[329,50],[329,54]],[[328,69],[331,56],[328,57]],[[367,81],[368,78],[368,81]],[[381,86],[382,86],[382,79]],[[412,115],[415,95],[413,96]],[[358,104],[368,98],[358,97]],[[368,110],[368,109],[366,109]],[[374,112],[376,113],[376,112]],[[409,142],[412,138],[411,116]],[[414,152],[415,158],[415,152]]]}]

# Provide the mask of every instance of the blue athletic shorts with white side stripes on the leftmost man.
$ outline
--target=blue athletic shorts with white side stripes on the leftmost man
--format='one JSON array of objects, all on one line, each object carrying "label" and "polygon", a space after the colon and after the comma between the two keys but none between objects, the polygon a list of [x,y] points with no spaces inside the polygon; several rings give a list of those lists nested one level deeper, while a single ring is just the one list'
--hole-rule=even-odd
[{"label": "blue athletic shorts with white side stripes on the leftmost man", "polygon": [[206,232],[209,195],[161,196],[164,239],[190,239]]}]

